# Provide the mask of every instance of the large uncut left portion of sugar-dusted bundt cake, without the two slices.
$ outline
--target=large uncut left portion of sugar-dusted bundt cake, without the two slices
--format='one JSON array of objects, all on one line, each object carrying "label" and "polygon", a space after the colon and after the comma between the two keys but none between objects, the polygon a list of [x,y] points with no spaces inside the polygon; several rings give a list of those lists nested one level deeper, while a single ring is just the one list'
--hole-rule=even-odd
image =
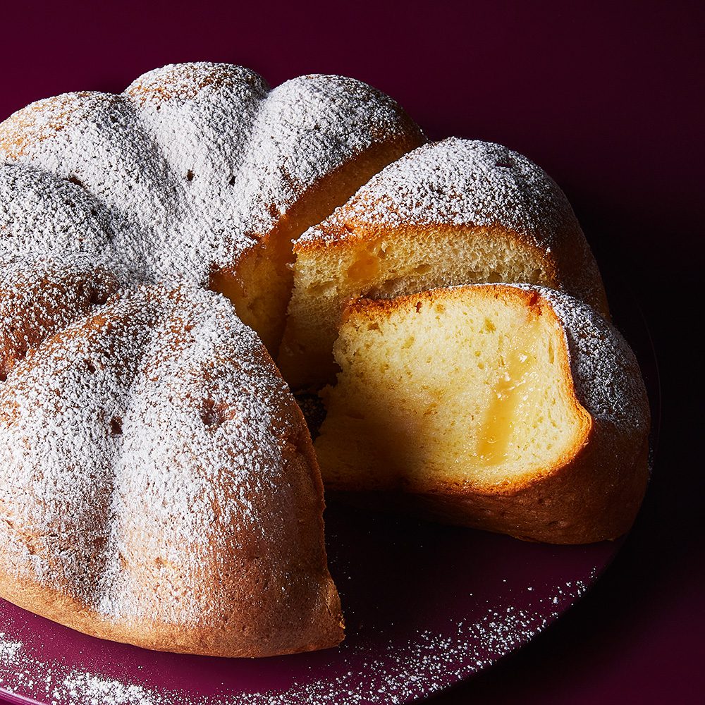
[{"label": "large uncut left portion of sugar-dusted bundt cake, without the two slices", "polygon": [[154,649],[341,641],[310,439],[247,326],[276,350],[291,240],[422,142],[359,81],[217,63],[0,124],[3,596]]}]

